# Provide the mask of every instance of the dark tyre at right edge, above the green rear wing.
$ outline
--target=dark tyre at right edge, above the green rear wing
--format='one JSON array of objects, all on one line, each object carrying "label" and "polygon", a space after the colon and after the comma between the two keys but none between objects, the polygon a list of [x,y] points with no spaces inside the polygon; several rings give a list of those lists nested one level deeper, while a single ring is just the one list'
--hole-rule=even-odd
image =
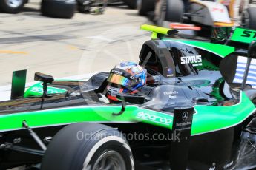
[{"label": "dark tyre at right edge, above the green rear wing", "polygon": [[256,7],[249,7],[242,13],[243,27],[256,30]]}]

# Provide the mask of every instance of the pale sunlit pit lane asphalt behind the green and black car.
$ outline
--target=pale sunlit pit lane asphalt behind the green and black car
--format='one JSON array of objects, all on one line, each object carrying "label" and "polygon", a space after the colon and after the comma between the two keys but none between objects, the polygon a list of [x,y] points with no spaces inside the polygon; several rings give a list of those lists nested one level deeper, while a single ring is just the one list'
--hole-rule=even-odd
[{"label": "pale sunlit pit lane asphalt behind the green and black car", "polygon": [[148,20],[125,6],[60,19],[41,16],[39,4],[32,1],[19,14],[0,13],[0,86],[10,85],[12,72],[20,69],[27,69],[27,82],[35,72],[62,78],[108,71],[120,61],[138,61],[150,38],[140,30]]}]

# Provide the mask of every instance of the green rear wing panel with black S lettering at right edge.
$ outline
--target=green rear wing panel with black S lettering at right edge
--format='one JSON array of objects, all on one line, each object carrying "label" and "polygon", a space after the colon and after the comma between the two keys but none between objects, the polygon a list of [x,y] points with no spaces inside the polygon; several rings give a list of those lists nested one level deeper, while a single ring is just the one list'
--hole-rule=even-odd
[{"label": "green rear wing panel with black S lettering at right edge", "polygon": [[[244,32],[248,33],[247,35],[249,35],[249,36],[246,36],[246,34],[244,34]],[[237,27],[234,30],[234,33],[232,35],[231,40],[249,44],[252,41],[256,40],[255,35],[256,35],[255,30],[249,30],[249,29],[244,29],[244,28]]]}]

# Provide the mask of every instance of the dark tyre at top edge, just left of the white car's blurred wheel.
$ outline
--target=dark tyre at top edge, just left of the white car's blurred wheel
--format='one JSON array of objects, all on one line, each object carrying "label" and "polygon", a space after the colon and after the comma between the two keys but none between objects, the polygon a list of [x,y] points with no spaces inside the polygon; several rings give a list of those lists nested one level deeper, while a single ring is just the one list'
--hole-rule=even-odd
[{"label": "dark tyre at top edge, just left of the white car's blurred wheel", "polygon": [[155,0],[138,0],[137,8],[140,16],[147,16],[148,12],[154,11]]}]

